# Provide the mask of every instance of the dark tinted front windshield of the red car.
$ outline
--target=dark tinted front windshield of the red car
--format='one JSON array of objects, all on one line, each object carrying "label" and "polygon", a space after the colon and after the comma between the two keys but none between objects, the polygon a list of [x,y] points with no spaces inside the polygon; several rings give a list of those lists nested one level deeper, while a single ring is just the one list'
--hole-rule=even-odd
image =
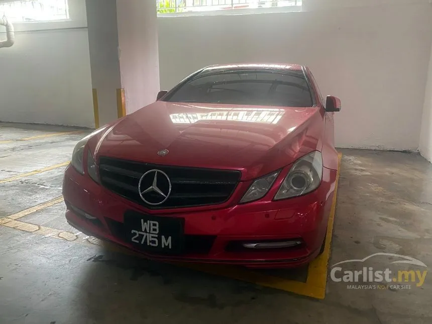
[{"label": "dark tinted front windshield of the red car", "polygon": [[170,102],[310,107],[312,94],[301,70],[204,69],[165,98]]}]

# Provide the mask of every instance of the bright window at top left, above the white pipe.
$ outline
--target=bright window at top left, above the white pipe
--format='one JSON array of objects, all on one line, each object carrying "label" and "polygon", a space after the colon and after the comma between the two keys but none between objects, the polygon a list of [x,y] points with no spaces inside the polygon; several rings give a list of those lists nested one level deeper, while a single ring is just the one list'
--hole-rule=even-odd
[{"label": "bright window at top left, above the white pipe", "polygon": [[68,0],[7,1],[0,5],[13,23],[60,21],[69,19]]}]

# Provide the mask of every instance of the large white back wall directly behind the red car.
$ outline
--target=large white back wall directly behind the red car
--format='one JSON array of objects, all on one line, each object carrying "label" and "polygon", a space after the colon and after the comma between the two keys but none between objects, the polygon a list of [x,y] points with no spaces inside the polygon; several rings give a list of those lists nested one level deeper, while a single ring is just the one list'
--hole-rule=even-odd
[{"label": "large white back wall directly behind the red car", "polygon": [[343,111],[336,117],[339,147],[416,150],[432,7],[427,0],[367,5],[158,18],[161,88],[216,63],[306,64],[323,94],[342,99]]}]

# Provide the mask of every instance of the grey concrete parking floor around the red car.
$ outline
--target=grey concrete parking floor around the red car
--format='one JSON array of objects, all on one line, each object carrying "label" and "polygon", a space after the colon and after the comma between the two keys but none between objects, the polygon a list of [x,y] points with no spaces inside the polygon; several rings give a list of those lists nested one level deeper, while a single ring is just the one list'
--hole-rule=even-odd
[{"label": "grey concrete parking floor around the red car", "polygon": [[[1,182],[67,162],[88,132],[76,131],[0,123],[0,218],[61,196],[64,166]],[[432,165],[416,154],[341,151],[330,266],[380,252],[432,265]],[[347,289],[329,278],[326,298],[317,300],[88,244],[76,239],[64,210],[60,202],[19,219],[34,225],[0,226],[0,324],[432,322],[427,276],[404,290]],[[50,231],[76,236],[69,242]],[[374,256],[364,265],[409,268],[395,260]],[[302,280],[298,271],[277,275]]]}]

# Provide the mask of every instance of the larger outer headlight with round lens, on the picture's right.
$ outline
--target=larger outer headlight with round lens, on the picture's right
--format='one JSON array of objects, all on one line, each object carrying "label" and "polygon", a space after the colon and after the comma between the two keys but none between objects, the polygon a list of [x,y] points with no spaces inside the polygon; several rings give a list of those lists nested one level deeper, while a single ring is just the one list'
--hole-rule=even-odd
[{"label": "larger outer headlight with round lens, on the picture's right", "polygon": [[313,191],[321,183],[321,178],[322,156],[320,152],[314,151],[294,163],[274,199],[297,197]]}]

